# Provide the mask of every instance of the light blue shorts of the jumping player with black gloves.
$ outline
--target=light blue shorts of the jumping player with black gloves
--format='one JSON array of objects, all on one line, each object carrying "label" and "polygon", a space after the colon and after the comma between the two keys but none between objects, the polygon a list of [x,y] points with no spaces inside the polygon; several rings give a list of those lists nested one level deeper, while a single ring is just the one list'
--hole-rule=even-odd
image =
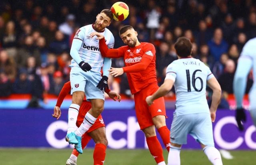
[{"label": "light blue shorts of the jumping player with black gloves", "polygon": [[71,67],[71,94],[76,91],[83,91],[87,101],[90,101],[90,99],[105,100],[104,91],[96,87],[101,78],[100,73],[94,71],[84,72],[80,67]]}]

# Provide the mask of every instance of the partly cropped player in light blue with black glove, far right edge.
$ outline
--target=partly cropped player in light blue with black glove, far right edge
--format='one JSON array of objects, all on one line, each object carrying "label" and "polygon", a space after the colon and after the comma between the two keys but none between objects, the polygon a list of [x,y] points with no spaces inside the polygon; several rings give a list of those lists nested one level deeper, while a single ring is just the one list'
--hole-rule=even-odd
[{"label": "partly cropped player in light blue with black glove, far right edge", "polygon": [[[246,114],[242,106],[243,97],[246,89],[246,80],[247,76],[250,73],[250,70],[253,69],[253,77],[256,77],[256,38],[250,39],[243,47],[241,55],[238,59],[238,65],[233,81],[233,90],[236,97],[236,122],[238,128],[242,131],[244,126],[242,121],[246,122]],[[249,93],[250,101],[250,113],[254,125],[256,126],[256,102],[254,98],[256,96],[256,84],[255,82],[252,85]]]}]

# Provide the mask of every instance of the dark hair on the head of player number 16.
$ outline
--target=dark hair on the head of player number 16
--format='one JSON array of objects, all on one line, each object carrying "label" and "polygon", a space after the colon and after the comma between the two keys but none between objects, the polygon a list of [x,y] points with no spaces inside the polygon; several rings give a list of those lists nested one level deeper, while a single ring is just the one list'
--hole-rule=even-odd
[{"label": "dark hair on the head of player number 16", "polygon": [[178,56],[188,57],[191,54],[192,43],[188,38],[180,37],[177,39],[176,43],[174,44],[174,48]]}]

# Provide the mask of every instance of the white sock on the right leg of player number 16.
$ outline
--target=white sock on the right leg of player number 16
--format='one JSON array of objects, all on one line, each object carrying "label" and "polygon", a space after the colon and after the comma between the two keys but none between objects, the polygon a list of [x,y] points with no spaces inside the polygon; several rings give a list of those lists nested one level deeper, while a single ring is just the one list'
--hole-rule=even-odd
[{"label": "white sock on the right leg of player number 16", "polygon": [[218,149],[213,146],[206,146],[203,148],[203,151],[213,165],[222,165],[222,160]]}]

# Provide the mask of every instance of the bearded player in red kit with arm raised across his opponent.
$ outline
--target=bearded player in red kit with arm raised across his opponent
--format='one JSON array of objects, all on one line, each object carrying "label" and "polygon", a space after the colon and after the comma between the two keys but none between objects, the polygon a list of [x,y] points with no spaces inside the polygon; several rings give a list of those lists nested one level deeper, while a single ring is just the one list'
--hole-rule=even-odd
[{"label": "bearded player in red kit with arm raised across his opponent", "polygon": [[[96,37],[93,37],[97,35]],[[148,107],[146,97],[158,90],[156,80],[156,50],[151,43],[138,41],[138,33],[132,26],[120,29],[120,37],[127,46],[118,49],[108,49],[104,36],[92,33],[91,36],[100,39],[100,52],[103,57],[124,57],[126,67],[112,68],[110,74],[116,76],[127,73],[132,94],[134,94],[135,110],[140,129],[146,136],[150,153],[158,165],[166,165],[162,154],[162,147],[156,138],[156,128],[169,151],[170,131],[166,127],[164,98],[158,98],[153,106]],[[156,127],[156,128],[155,128]]]}]

